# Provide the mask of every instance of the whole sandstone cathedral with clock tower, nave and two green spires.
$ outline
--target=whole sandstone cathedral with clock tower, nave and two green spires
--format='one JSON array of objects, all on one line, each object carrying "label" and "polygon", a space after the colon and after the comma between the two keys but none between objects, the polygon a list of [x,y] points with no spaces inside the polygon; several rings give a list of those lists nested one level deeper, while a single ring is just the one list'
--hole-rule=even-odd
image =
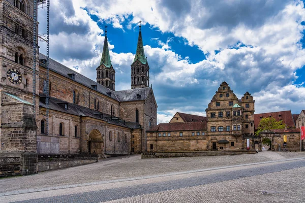
[{"label": "whole sandstone cathedral with clock tower, nave and two green spires", "polygon": [[107,30],[94,81],[51,58],[47,64],[39,50],[34,60],[33,1],[0,4],[0,153],[105,156],[146,151],[145,131],[157,125],[157,103],[149,87],[141,25],[131,89],[115,91]]}]

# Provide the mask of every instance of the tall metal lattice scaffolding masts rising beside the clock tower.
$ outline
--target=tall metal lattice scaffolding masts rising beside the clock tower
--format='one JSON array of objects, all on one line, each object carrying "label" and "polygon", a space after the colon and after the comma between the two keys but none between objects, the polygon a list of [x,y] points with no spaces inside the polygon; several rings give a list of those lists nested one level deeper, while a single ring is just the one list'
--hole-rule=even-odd
[{"label": "tall metal lattice scaffolding masts rising beside the clock tower", "polygon": [[[47,33],[38,35],[37,33],[37,9],[45,9],[47,11]],[[50,0],[34,0],[34,44],[33,44],[33,105],[34,116],[36,118],[36,56],[38,41],[47,43],[46,50],[46,130],[49,134],[49,30],[50,30]]]}]

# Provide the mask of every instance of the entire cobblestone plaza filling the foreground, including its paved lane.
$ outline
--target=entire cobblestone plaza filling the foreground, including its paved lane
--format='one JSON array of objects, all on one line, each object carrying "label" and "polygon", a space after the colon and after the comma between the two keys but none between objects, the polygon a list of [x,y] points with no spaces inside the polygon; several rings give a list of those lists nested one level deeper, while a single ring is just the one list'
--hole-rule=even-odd
[{"label": "entire cobblestone plaza filling the foreground, including its paved lane", "polygon": [[[0,180],[1,202],[303,202],[304,153],[140,159]],[[94,174],[94,175],[93,175]]]}]

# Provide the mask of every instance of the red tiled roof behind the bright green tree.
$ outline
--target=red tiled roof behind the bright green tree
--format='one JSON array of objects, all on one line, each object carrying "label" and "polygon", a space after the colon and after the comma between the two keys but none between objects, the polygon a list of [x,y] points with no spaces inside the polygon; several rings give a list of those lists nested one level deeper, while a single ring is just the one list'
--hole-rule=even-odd
[{"label": "red tiled roof behind the bright green tree", "polygon": [[[281,115],[281,116],[280,116]],[[268,118],[273,117],[277,121],[280,121],[281,119],[283,122],[287,125],[287,127],[295,127],[295,123],[291,114],[291,111],[278,111],[278,112],[268,112],[268,113],[262,113],[262,114],[254,114],[254,127],[257,129],[260,118]]]}]

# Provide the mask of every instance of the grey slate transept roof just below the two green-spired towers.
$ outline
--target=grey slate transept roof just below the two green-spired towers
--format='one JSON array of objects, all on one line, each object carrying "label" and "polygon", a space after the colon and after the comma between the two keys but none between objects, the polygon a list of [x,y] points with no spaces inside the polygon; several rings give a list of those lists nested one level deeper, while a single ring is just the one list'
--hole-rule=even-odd
[{"label": "grey slate transept roof just below the two green-spired towers", "polygon": [[[121,91],[115,91],[119,101],[137,101],[137,100],[145,100],[150,92],[150,87],[145,88],[136,88],[136,89],[127,89]],[[137,94],[141,95],[140,98],[137,97]]]}]

